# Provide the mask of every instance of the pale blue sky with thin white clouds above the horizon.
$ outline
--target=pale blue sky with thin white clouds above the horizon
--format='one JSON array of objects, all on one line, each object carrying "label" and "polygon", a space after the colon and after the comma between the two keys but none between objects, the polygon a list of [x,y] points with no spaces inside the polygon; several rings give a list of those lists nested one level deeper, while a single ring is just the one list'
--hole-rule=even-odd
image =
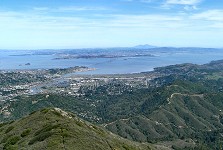
[{"label": "pale blue sky with thin white clouds above the horizon", "polygon": [[139,44],[223,47],[223,1],[0,1],[0,49]]}]

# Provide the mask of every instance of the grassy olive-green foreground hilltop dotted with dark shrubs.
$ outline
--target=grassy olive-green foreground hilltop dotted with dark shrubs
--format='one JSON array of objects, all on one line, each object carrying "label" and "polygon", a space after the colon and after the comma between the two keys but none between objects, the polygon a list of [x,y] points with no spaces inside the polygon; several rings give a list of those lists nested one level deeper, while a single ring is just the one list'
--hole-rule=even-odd
[{"label": "grassy olive-green foreground hilltop dotted with dark shrubs", "polygon": [[151,148],[149,144],[122,139],[57,108],[43,109],[0,127],[0,149],[3,150],[149,150]]}]

